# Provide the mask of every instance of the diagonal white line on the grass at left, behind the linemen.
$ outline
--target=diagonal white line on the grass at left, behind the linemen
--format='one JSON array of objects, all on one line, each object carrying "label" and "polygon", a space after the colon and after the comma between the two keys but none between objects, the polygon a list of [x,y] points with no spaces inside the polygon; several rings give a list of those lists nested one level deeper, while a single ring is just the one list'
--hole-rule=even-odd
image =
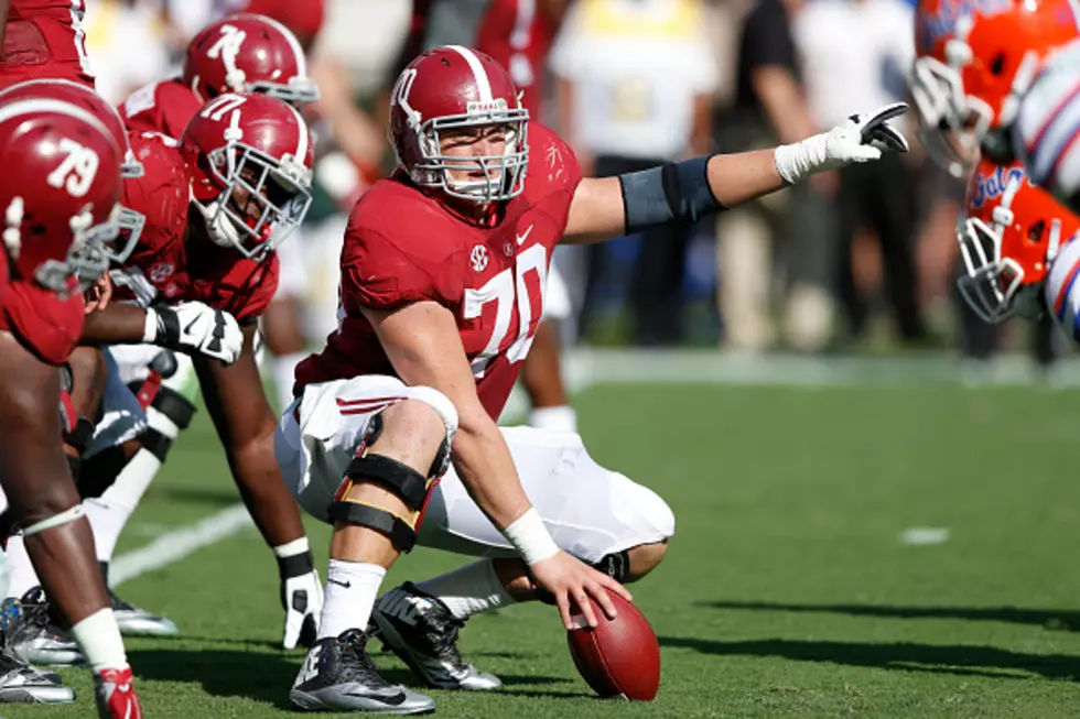
[{"label": "diagonal white line on the grass at left, behind the linemen", "polygon": [[144,547],[116,557],[109,567],[109,585],[116,587],[149,571],[162,569],[249,526],[253,526],[253,523],[248,508],[238,502],[198,522],[162,534]]}]

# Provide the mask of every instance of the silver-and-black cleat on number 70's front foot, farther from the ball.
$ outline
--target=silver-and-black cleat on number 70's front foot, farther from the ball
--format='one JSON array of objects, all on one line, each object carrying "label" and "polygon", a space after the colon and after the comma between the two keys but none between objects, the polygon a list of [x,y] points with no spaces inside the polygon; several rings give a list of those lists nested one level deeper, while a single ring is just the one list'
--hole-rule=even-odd
[{"label": "silver-and-black cleat on number 70's front foot, farther from the ball", "polygon": [[431,713],[431,697],[390,684],[367,654],[369,634],[358,629],[321,639],[307,652],[289,699],[307,711]]}]

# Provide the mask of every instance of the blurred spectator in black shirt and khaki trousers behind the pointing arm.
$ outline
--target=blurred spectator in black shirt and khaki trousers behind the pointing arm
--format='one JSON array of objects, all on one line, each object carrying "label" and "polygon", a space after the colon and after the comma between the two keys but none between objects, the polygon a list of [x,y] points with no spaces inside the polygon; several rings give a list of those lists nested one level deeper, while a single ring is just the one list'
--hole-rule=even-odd
[{"label": "blurred spectator in black shirt and khaki trousers behind the pointing arm", "polygon": [[[797,142],[818,131],[803,97],[791,37],[791,19],[802,4],[803,0],[757,0],[746,13],[738,42],[735,107],[717,123],[722,151]],[[827,341],[832,241],[828,208],[818,193],[831,199],[835,183],[834,175],[817,175],[812,185],[792,187],[721,216],[719,301],[727,346],[759,350],[771,342],[770,240],[788,250],[788,341],[802,350],[819,349]]]}]

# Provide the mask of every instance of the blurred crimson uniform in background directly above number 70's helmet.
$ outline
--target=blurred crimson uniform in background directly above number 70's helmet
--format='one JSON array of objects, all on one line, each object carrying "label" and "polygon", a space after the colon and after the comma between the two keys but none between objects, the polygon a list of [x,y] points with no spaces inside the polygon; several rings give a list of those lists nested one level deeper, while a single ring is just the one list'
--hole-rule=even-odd
[{"label": "blurred crimson uniform in background directly above number 70's helmet", "polygon": [[476,50],[509,72],[533,120],[540,118],[544,58],[553,41],[554,26],[536,0],[492,0],[476,33]]}]

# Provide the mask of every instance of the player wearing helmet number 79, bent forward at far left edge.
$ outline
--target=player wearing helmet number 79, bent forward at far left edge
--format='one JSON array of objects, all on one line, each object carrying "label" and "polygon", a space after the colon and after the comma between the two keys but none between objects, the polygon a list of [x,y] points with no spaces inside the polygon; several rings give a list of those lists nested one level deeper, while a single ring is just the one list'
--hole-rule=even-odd
[{"label": "player wearing helmet number 79, bent forward at far left edge", "polygon": [[[42,584],[94,669],[99,715],[140,717],[56,412],[56,368],[83,325],[77,277],[107,266],[101,246],[118,229],[123,155],[93,115],[44,99],[0,104],[0,155],[8,170],[0,205],[11,273],[0,317],[0,484]],[[3,678],[11,677],[0,680],[0,698],[74,698],[55,675],[13,667],[7,652],[0,661]]]}]

